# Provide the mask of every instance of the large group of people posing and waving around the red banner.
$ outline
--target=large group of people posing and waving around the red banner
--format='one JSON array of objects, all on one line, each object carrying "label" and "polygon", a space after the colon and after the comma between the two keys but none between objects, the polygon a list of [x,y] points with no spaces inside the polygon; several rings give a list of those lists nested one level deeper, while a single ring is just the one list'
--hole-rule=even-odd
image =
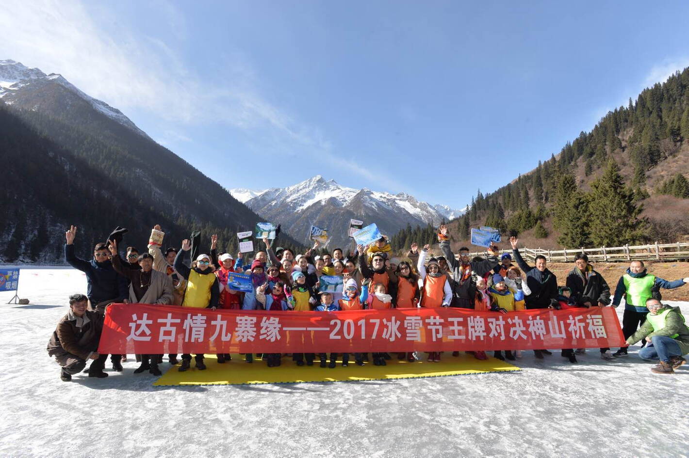
[{"label": "large group of people posing and waving around the red banner", "polygon": [[[61,366],[61,379],[69,381],[72,375],[84,370],[87,362],[89,377],[107,377],[103,371],[108,355],[97,353],[105,309],[112,303],[171,304],[183,307],[209,309],[243,309],[266,311],[349,311],[361,309],[391,309],[415,307],[457,307],[477,311],[511,313],[524,309],[566,309],[570,307],[615,306],[626,298],[623,333],[626,344],[644,340],[639,355],[645,359],[658,359],[652,368],[655,373],[672,373],[685,362],[682,357],[689,353],[689,329],[679,308],[661,304],[659,289],[673,289],[689,282],[688,278],[667,281],[647,273],[644,262],[633,261],[617,282],[615,294],[610,300],[610,288],[602,275],[593,269],[585,253],[577,254],[575,267],[558,284],[556,275],[548,270],[544,256],[535,258],[535,265],[528,265],[517,249],[517,238],[510,243],[512,253],[504,253],[496,246],[489,247],[486,259],[470,259],[469,249],[462,247],[455,256],[451,251],[449,232],[445,225],[438,231],[440,256],[429,256],[429,245],[419,249],[411,244],[407,258],[391,256],[387,238],[376,240],[369,247],[358,245],[356,251],[347,253],[334,249],[331,253],[317,256],[320,244],[305,253],[295,255],[291,249],[276,247],[264,238],[265,251],[257,251],[251,262],[243,253],[236,258],[231,253],[218,256],[217,236],[212,236],[208,254],[200,251],[200,236],[183,240],[181,249],[167,248],[154,242],[154,227],[147,251],[140,253],[135,247],[127,247],[125,258],[119,253],[119,244],[127,229],[118,227],[107,242],[96,244],[92,260],[82,260],[74,253],[76,227],[65,233],[65,260],[75,269],[86,274],[86,294],[70,296],[70,311],[56,326],[48,353]],[[192,262],[185,264],[187,251]],[[322,251],[322,250],[320,250]],[[513,264],[513,260],[517,265]],[[248,273],[251,291],[231,289],[228,280],[232,273]],[[342,291],[320,291],[322,275],[342,278]],[[639,325],[641,327],[639,328]],[[577,362],[576,355],[583,348],[562,350],[562,356]],[[484,351],[469,352],[478,360],[484,360]],[[499,359],[515,360],[521,351],[494,351]],[[611,353],[610,348],[600,348],[604,360],[615,360],[627,355],[626,346]],[[459,351],[453,352],[458,356]],[[535,350],[534,355],[543,359],[552,353],[546,349]],[[295,353],[291,355],[298,366],[313,365],[318,355],[321,367],[336,367],[335,353]],[[168,355],[169,363],[178,371],[191,367],[192,355]],[[284,355],[266,353],[263,360],[268,366],[280,366]],[[388,353],[373,353],[374,365],[385,365],[391,358]],[[112,368],[123,371],[121,362],[127,355],[110,355]],[[216,355],[218,363],[231,359],[231,355]],[[254,355],[244,355],[247,363],[254,362]],[[354,361],[362,366],[369,360],[367,353],[354,353]],[[429,362],[440,362],[441,353],[431,352]],[[141,365],[134,373],[149,371],[161,375],[158,364],[163,355],[136,355]],[[400,360],[415,361],[414,353],[399,353]],[[194,355],[195,367],[205,370],[204,355]],[[349,364],[349,354],[342,355],[342,366]]]}]

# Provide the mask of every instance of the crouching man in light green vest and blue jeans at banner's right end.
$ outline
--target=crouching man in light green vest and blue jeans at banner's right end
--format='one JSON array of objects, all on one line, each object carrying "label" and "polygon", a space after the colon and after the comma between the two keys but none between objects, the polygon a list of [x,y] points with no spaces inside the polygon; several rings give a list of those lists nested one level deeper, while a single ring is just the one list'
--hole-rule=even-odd
[{"label": "crouching man in light green vest and blue jeans at banner's right end", "polygon": [[689,329],[685,324],[679,307],[661,304],[659,300],[646,300],[648,315],[639,331],[627,339],[633,345],[641,339],[649,342],[639,350],[644,360],[660,360],[650,370],[657,374],[671,374],[686,360],[682,355],[689,353]]}]

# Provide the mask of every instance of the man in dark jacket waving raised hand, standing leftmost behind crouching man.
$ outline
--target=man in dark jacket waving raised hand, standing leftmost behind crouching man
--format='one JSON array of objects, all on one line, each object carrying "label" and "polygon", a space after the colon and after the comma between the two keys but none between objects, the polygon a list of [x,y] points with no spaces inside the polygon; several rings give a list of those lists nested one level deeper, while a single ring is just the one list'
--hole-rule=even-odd
[{"label": "man in dark jacket waving raised hand, standing leftmost behind crouching man", "polygon": [[[107,245],[96,244],[93,259],[86,261],[77,258],[74,254],[74,238],[76,238],[76,226],[70,227],[70,230],[65,233],[67,240],[65,261],[74,269],[86,274],[86,296],[90,303],[89,309],[104,314],[105,307],[113,302],[127,302],[129,281],[113,269]],[[115,371],[123,371],[121,359],[122,355],[110,355],[112,368]]]}]

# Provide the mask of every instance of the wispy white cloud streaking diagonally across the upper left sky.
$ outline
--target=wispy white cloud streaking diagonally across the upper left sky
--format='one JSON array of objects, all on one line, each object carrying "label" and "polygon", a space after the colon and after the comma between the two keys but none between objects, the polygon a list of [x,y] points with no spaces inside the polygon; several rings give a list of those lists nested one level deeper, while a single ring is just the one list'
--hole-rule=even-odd
[{"label": "wispy white cloud streaking diagonally across the upper left sky", "polygon": [[[185,17],[172,3],[158,0],[161,21],[184,40]],[[85,6],[86,5],[86,6]],[[318,129],[296,121],[254,90],[254,71],[239,50],[225,50],[222,86],[189,70],[159,37],[134,33],[101,3],[76,0],[6,0],[0,9],[0,59],[14,59],[43,72],[56,72],[87,94],[119,108],[151,114],[163,123],[224,123],[238,129],[271,130],[325,165],[358,174],[390,189],[404,189],[333,152]],[[100,22],[99,22],[100,21]],[[263,134],[263,131],[260,132]],[[187,136],[168,130],[161,143],[172,147]]]}]

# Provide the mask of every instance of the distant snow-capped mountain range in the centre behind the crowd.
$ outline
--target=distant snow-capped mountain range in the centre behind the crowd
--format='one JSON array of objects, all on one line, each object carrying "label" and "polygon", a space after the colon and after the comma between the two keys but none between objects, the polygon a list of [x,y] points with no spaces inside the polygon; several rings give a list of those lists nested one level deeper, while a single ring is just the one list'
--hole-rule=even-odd
[{"label": "distant snow-capped mountain range in the centre behind the crowd", "polygon": [[289,187],[230,189],[230,194],[266,220],[281,222],[291,236],[307,241],[311,225],[329,229],[331,243],[345,245],[351,218],[375,222],[382,233],[411,226],[440,225],[464,214],[464,209],[430,205],[406,194],[389,194],[345,187],[320,175]]}]

